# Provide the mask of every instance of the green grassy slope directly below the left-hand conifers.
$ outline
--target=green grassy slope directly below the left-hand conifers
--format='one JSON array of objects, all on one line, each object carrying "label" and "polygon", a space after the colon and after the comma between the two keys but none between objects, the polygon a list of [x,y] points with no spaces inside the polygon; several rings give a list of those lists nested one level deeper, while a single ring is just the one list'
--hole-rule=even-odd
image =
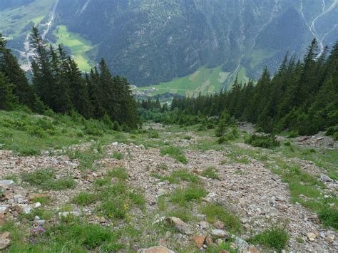
[{"label": "green grassy slope directly below the left-hand conifers", "polygon": [[[40,155],[43,150],[53,153],[90,140],[110,143],[126,140],[126,137],[123,133],[114,132],[101,121],[86,120],[77,114],[69,116],[48,113],[48,116],[42,116],[23,111],[0,111],[2,149],[14,150],[21,155]],[[91,155],[92,151],[83,154],[83,159]]]}]

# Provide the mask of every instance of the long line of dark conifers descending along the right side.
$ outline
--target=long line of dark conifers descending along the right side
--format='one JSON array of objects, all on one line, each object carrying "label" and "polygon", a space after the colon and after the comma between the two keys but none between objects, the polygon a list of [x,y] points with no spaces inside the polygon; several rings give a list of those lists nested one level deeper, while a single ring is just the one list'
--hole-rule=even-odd
[{"label": "long line of dark conifers descending along the right side", "polygon": [[287,54],[275,76],[265,68],[256,84],[252,80],[239,83],[236,77],[230,91],[174,98],[171,110],[176,113],[170,118],[175,118],[178,110],[181,118],[177,120],[189,123],[198,120],[195,118],[220,116],[227,110],[266,133],[290,130],[299,135],[338,125],[338,41],[328,51],[326,47],[320,53],[314,39],[303,61]]}]

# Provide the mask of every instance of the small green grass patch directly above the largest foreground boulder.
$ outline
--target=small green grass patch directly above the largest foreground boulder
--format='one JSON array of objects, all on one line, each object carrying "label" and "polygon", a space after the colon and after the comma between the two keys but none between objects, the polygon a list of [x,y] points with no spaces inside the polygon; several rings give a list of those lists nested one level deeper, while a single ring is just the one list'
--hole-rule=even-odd
[{"label": "small green grass patch directly above the largest foreground boulder", "polygon": [[170,197],[170,201],[177,203],[181,206],[188,205],[192,201],[200,201],[202,197],[205,197],[208,192],[204,187],[191,183],[185,188],[180,188],[173,192],[173,195]]}]

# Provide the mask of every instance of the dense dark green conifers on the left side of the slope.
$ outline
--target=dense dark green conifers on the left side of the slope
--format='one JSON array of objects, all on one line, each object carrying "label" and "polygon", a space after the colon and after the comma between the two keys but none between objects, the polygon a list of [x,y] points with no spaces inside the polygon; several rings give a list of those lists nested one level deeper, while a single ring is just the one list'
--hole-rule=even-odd
[{"label": "dense dark green conifers on the left side of the slope", "polygon": [[[62,46],[54,48],[34,27],[32,85],[0,34],[0,110],[29,108],[36,113],[79,113],[112,125],[137,128],[136,103],[126,78],[111,76],[104,59],[83,75]],[[113,124],[114,123],[114,124]]]}]

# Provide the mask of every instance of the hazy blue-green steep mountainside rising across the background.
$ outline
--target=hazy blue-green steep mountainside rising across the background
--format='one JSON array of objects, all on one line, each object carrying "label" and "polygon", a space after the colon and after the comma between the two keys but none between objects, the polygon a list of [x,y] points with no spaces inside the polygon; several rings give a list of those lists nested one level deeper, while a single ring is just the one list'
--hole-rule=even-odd
[{"label": "hazy blue-green steep mountainside rising across the background", "polygon": [[[16,24],[22,18],[14,19],[15,14],[24,16],[29,6],[43,1],[31,4],[26,4],[29,0],[9,1],[14,6],[20,2],[26,5],[12,8],[11,14],[9,9],[0,11],[0,19],[6,17]],[[114,74],[127,76],[137,86],[171,81],[206,67],[221,68],[227,78],[215,86],[225,88],[237,72],[251,78],[257,78],[265,66],[274,72],[286,51],[301,56],[314,37],[321,46],[332,46],[338,38],[338,0],[53,0],[48,3],[43,20],[32,17],[35,24],[46,24],[55,7],[56,19],[46,38],[54,43],[66,43],[74,55],[81,54],[83,70],[88,70],[91,65],[88,63],[104,56]],[[17,41],[17,32],[6,31],[6,26],[0,29]],[[65,39],[74,37],[78,39]],[[20,45],[26,37],[19,38],[19,43],[11,41],[11,46],[23,51]]]}]

